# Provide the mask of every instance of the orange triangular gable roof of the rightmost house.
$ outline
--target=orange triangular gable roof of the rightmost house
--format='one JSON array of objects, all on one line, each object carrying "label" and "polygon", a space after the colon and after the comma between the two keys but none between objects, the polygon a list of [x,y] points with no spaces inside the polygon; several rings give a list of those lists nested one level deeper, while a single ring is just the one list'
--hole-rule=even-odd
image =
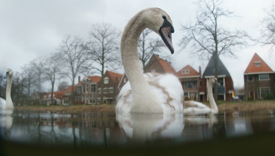
[{"label": "orange triangular gable roof of the rightmost house", "polygon": [[[255,66],[255,62],[261,63],[261,66]],[[245,69],[244,75],[255,73],[274,73],[270,66],[268,66],[257,53],[254,53],[254,56],[248,64],[248,68]]]}]

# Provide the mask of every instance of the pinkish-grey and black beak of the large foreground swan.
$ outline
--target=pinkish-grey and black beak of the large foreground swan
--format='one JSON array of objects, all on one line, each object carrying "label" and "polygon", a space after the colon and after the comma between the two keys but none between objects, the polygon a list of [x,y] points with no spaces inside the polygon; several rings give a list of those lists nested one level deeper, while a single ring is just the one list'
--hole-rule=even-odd
[{"label": "pinkish-grey and black beak of the large foreground swan", "polygon": [[174,48],[172,44],[172,30],[173,27],[161,27],[159,29],[159,34],[162,37],[162,40],[166,44],[166,47],[170,50],[170,52],[173,54],[174,53]]}]

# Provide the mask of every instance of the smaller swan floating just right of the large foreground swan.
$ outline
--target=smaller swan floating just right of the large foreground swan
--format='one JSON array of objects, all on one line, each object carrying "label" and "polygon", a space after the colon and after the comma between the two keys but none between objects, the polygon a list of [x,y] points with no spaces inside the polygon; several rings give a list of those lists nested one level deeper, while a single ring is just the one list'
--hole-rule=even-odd
[{"label": "smaller swan floating just right of the large foreground swan", "polygon": [[196,101],[185,101],[184,102],[184,115],[197,115],[197,114],[217,114],[219,109],[214,101],[212,92],[212,85],[217,82],[215,77],[210,77],[207,83],[207,90],[209,96],[210,107]]}]

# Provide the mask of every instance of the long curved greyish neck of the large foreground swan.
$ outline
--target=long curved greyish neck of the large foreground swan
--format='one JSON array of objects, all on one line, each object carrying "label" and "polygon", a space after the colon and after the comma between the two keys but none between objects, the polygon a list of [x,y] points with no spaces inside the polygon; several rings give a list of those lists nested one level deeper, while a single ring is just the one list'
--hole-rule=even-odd
[{"label": "long curved greyish neck of the large foreground swan", "polygon": [[120,45],[125,74],[133,92],[131,112],[163,113],[162,105],[148,85],[138,59],[138,40],[146,29],[140,18],[140,14],[133,16],[125,26]]}]

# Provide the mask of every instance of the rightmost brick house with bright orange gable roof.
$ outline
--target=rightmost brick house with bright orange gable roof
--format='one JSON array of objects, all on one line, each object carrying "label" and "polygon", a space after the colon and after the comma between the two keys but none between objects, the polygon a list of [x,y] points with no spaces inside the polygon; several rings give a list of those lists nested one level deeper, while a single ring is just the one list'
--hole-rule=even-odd
[{"label": "rightmost brick house with bright orange gable roof", "polygon": [[268,66],[261,57],[255,53],[248,68],[243,73],[245,83],[245,95],[253,100],[263,99],[265,94],[274,92],[274,71]]}]

